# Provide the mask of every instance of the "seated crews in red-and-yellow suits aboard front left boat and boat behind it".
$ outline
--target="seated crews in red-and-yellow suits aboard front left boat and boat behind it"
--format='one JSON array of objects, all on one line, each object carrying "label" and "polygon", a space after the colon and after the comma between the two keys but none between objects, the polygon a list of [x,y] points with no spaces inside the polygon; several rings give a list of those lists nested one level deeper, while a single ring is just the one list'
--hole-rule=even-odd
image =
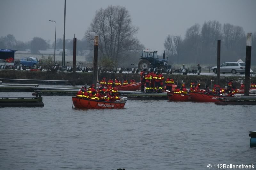
[{"label": "seated crews in red-and-yellow suits aboard front left boat and boat behind it", "polygon": [[[136,83],[134,79],[130,80],[130,84]],[[106,81],[106,78],[102,78],[99,82],[100,87],[99,89],[95,89],[95,85],[92,84],[88,89],[85,86],[82,86],[76,96],[77,97],[85,97],[91,100],[99,100],[99,101],[106,101],[106,102],[115,102],[116,100],[120,100],[121,98],[118,96],[119,92],[116,87],[122,86],[121,81],[119,78],[116,78],[115,81],[110,79]],[[124,79],[123,85],[128,85],[128,81]],[[104,87],[107,87],[105,89]]]}]

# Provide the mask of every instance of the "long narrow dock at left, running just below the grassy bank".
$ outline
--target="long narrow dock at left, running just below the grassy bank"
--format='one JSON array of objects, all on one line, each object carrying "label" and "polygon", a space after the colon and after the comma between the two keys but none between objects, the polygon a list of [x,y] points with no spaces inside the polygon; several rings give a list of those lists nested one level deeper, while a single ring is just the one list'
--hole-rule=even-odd
[{"label": "long narrow dock at left, running just below the grassy bank", "polygon": [[25,84],[56,84],[56,85],[72,85],[72,81],[68,80],[33,80],[33,79],[1,79],[4,83],[25,83]]}]

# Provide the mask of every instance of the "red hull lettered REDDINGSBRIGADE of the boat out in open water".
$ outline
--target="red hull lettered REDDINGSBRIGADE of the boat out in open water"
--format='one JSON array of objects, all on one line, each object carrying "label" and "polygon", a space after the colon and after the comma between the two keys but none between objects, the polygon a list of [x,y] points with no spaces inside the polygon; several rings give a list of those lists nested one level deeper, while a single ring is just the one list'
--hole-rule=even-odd
[{"label": "red hull lettered REDDINGSBRIGADE of the boat out in open water", "polygon": [[72,96],[72,103],[79,109],[123,109],[125,102],[105,102]]}]

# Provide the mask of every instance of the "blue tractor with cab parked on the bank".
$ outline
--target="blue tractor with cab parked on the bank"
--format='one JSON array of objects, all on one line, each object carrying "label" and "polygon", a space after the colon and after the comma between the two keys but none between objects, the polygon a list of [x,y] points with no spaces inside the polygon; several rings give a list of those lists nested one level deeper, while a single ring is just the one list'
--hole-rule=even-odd
[{"label": "blue tractor with cab parked on the bank", "polygon": [[157,51],[151,50],[142,50],[142,56],[140,56],[140,61],[138,64],[139,69],[159,69],[162,72],[170,69],[172,66],[168,65],[168,60],[165,59],[165,50],[163,59],[159,59],[157,55]]}]

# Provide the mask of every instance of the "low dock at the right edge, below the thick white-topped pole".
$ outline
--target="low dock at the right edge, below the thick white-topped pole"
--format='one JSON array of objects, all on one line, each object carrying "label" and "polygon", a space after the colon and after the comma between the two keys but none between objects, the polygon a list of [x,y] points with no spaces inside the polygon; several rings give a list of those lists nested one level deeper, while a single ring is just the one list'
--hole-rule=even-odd
[{"label": "low dock at the right edge, below the thick white-topped pole", "polygon": [[256,97],[255,96],[241,96],[241,97],[220,97],[219,101],[215,102],[215,104],[219,105],[256,105]]}]

